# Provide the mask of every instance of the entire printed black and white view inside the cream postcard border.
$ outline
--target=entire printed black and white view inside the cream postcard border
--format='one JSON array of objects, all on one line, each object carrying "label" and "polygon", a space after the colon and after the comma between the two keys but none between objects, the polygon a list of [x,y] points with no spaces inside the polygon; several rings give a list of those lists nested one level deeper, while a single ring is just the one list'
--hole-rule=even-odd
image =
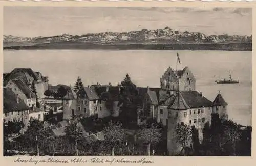
[{"label": "entire printed black and white view inside the cream postcard border", "polygon": [[4,156],[251,156],[252,8],[3,7]]}]

